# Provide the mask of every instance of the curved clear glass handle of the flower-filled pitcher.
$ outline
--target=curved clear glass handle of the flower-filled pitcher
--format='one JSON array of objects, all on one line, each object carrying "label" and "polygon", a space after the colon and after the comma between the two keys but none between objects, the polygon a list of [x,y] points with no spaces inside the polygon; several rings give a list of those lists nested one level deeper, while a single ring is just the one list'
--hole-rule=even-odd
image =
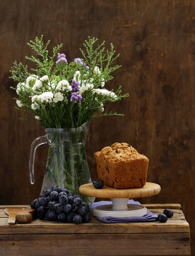
[{"label": "curved clear glass handle of the flower-filled pitcher", "polygon": [[29,178],[30,178],[31,184],[34,184],[34,161],[35,161],[36,150],[38,146],[46,143],[47,143],[46,136],[41,136],[36,138],[31,145],[30,159],[29,159]]}]

